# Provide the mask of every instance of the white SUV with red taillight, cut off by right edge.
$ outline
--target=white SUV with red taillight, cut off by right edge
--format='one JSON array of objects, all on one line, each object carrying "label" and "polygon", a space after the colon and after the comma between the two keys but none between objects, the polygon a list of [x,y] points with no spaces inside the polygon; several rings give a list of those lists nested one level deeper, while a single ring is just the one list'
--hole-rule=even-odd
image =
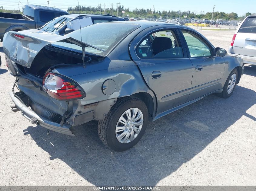
[{"label": "white SUV with red taillight, cut off by right edge", "polygon": [[256,65],[256,14],[246,17],[239,25],[228,53],[240,56],[244,64]]}]

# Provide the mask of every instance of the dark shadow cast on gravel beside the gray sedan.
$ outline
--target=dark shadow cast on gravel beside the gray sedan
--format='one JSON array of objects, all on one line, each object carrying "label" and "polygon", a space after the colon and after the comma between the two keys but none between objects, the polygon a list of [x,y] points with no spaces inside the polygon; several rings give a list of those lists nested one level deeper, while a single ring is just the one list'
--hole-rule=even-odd
[{"label": "dark shadow cast on gravel beside the gray sedan", "polygon": [[[241,101],[243,97],[246,99]],[[76,137],[52,131],[47,136],[41,126],[29,126],[24,131],[51,155],[49,160],[62,160],[92,184],[156,185],[241,116],[250,117],[246,111],[254,104],[255,91],[239,85],[228,99],[210,95],[149,123],[141,141],[124,152],[111,151],[101,143],[97,121],[77,126]]]}]

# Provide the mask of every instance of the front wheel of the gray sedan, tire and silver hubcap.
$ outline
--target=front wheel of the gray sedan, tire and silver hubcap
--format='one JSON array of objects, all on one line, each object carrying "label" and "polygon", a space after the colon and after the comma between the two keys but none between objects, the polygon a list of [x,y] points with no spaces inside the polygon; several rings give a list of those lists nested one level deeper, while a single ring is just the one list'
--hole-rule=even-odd
[{"label": "front wheel of the gray sedan, tire and silver hubcap", "polygon": [[237,72],[237,69],[234,68],[234,70],[232,70],[232,72],[228,76],[228,79],[224,84],[223,91],[219,94],[219,96],[223,98],[230,97],[234,92],[237,80],[238,80],[238,72]]}]

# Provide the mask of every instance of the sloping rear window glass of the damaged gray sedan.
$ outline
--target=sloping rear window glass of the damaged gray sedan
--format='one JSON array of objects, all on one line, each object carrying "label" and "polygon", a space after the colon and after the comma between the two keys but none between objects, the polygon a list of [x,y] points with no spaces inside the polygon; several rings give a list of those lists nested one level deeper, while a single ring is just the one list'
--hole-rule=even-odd
[{"label": "sloping rear window glass of the damaged gray sedan", "polygon": [[[138,24],[128,23],[101,23],[94,24],[81,29],[82,42],[97,47],[98,50],[93,47],[86,47],[85,52],[97,54],[100,56],[106,56],[108,52],[118,44],[123,38],[125,38],[130,32],[140,27]],[[71,39],[81,41],[80,30],[76,30],[67,36]],[[71,43],[66,43],[67,48],[81,50],[80,46],[76,46]]]}]

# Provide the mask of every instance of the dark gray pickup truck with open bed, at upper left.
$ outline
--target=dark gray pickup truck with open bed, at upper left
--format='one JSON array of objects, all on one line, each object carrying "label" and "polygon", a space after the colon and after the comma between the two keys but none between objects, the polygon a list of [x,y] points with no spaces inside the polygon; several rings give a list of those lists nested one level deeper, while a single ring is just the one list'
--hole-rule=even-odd
[{"label": "dark gray pickup truck with open bed, at upper left", "polygon": [[23,14],[0,12],[0,39],[8,31],[20,31],[42,27],[52,19],[68,12],[40,5],[25,5]]}]

